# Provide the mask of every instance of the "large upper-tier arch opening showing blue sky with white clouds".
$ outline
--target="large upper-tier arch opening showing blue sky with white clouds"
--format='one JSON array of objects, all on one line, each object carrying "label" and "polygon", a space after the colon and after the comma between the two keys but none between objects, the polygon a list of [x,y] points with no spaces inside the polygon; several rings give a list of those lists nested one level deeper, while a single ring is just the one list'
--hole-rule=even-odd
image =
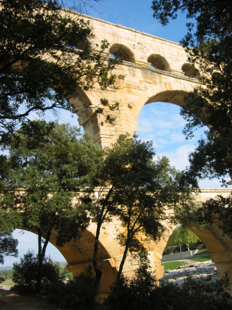
[{"label": "large upper-tier arch opening showing blue sky with white clouds", "polygon": [[[193,139],[186,140],[182,132],[186,122],[180,116],[180,105],[185,94],[184,91],[160,92],[149,98],[137,117],[136,134],[139,138],[153,140],[157,155],[168,157],[171,165],[178,170],[184,170],[189,165],[188,154],[195,149],[201,135],[204,135],[204,131],[199,129]],[[204,179],[200,180],[199,186],[218,188],[221,184],[218,179]]]}]

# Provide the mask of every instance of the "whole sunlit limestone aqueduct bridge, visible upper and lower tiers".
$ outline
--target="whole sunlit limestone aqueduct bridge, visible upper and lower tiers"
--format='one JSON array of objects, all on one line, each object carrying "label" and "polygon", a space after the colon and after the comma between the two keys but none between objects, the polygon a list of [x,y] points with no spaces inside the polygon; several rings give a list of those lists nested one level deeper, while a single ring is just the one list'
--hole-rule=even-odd
[{"label": "whole sunlit limestone aqueduct bridge, visible upper and lower tiers", "polygon": [[[117,137],[126,131],[133,134],[137,130],[136,119],[144,104],[153,102],[169,102],[183,105],[183,97],[198,85],[198,74],[195,68],[187,63],[187,55],[182,47],[171,41],[141,33],[139,31],[111,24],[109,22],[86,17],[90,20],[95,41],[103,38],[109,43],[109,56],[120,52],[123,62],[117,66],[115,73],[117,82],[106,91],[77,93],[70,102],[77,108],[79,124],[85,131],[92,134],[96,143],[102,147],[115,142]],[[150,67],[152,64],[153,68]],[[92,107],[101,105],[101,98],[109,103],[118,102],[119,111],[105,109],[113,124],[101,125],[101,119],[94,116]],[[89,108],[82,108],[89,106]],[[155,122],[155,118],[154,118]],[[228,195],[228,189],[202,189],[199,200],[214,197],[217,194]],[[122,248],[115,241],[120,223],[105,224],[101,228],[99,264],[103,271],[101,292],[107,292],[115,280],[122,258]],[[60,248],[68,262],[68,270],[79,272],[92,262],[95,227],[90,225],[79,241],[70,242]],[[216,263],[219,277],[232,266],[232,240],[222,237],[216,226],[206,226],[201,231],[194,230],[207,246],[210,257]],[[171,234],[171,231],[170,231]],[[160,242],[146,241],[140,236],[144,246],[150,253],[151,264],[161,278],[163,268],[160,265],[166,241],[165,236]],[[51,242],[55,244],[55,232]],[[137,262],[128,257],[123,272],[131,276]]]}]

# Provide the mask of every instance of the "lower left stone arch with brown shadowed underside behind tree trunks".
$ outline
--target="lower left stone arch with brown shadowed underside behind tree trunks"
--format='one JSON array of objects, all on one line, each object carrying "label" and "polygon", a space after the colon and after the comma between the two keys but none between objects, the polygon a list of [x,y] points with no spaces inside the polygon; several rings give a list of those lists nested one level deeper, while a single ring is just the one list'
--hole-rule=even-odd
[{"label": "lower left stone arch with brown shadowed underside behind tree trunks", "polygon": [[[122,247],[116,242],[115,237],[118,234],[116,226],[120,223],[115,220],[112,223],[105,223],[101,228],[98,245],[98,265],[102,271],[100,294],[104,298],[109,293],[110,285],[116,280],[118,266],[121,261]],[[22,228],[37,234],[36,231],[28,228]],[[62,247],[56,246],[57,232],[53,228],[49,242],[52,243],[64,256],[67,261],[67,270],[73,274],[84,271],[88,265],[92,265],[93,249],[95,242],[96,224],[91,223],[88,229],[81,232],[78,240],[71,240]]]}]

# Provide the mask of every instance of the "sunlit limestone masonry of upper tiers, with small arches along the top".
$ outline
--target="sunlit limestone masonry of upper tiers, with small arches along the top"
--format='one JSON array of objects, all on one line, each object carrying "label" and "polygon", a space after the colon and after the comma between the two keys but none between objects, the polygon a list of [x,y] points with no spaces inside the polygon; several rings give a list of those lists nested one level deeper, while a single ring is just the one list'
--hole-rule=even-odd
[{"label": "sunlit limestone masonry of upper tiers, with small arches along the top", "polygon": [[[123,59],[114,70],[115,85],[102,91],[96,84],[94,90],[76,92],[70,99],[77,108],[79,124],[102,147],[115,142],[122,133],[133,134],[137,130],[136,119],[144,104],[162,101],[183,105],[184,95],[199,85],[197,70],[187,63],[187,55],[178,43],[104,20],[85,18],[95,35],[92,44],[106,39],[110,45],[105,57],[118,52]],[[101,99],[112,104],[118,102],[119,111],[107,110]],[[110,114],[113,124],[101,125],[103,119],[94,116],[91,110],[96,106],[104,108],[105,115]]]}]

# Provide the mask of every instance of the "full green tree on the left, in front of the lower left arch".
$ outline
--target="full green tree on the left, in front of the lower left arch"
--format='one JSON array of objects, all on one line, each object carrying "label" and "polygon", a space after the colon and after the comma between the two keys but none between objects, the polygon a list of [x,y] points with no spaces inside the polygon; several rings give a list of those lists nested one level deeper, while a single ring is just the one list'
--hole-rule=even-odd
[{"label": "full green tree on the left, in front of the lower left arch", "polygon": [[[38,131],[28,136],[27,132],[35,128]],[[56,229],[57,246],[63,246],[72,238],[79,238],[80,230],[88,225],[78,194],[81,188],[91,187],[102,150],[75,127],[53,122],[24,124],[16,135],[20,139],[11,143],[8,193],[2,197],[2,206],[23,212],[23,227],[38,234],[36,289],[40,291],[52,229]]]}]

